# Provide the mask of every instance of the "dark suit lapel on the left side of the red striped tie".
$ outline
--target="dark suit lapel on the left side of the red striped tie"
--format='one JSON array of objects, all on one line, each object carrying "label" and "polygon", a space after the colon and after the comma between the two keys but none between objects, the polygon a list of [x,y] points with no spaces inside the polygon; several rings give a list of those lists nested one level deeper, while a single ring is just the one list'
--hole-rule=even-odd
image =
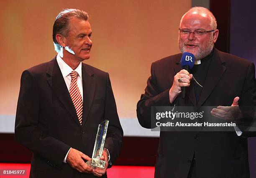
[{"label": "dark suit lapel on the left side of the red striped tie", "polygon": [[77,112],[75,110],[74,104],[70,97],[67,85],[59,69],[56,57],[49,64],[48,70],[46,72],[49,78],[47,79],[48,84],[51,86],[56,97],[59,99],[61,104],[67,109],[74,121],[80,126],[78,121]]}]

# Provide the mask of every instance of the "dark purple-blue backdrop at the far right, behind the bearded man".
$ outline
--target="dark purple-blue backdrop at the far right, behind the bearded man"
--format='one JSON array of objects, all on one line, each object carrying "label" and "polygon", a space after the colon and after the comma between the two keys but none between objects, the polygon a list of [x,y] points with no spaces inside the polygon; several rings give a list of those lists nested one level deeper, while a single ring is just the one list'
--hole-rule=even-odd
[{"label": "dark purple-blue backdrop at the far right, behind the bearded man", "polygon": [[[256,64],[255,0],[232,1],[230,12],[230,53]],[[238,71],[239,72],[239,71]],[[256,178],[256,137],[248,138],[251,178]]]}]

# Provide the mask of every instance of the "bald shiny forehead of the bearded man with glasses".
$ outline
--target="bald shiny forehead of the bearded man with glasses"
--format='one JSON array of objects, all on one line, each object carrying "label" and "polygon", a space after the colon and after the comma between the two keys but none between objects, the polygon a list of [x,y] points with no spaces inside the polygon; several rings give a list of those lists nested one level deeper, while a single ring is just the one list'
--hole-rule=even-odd
[{"label": "bald shiny forehead of the bearded man with glasses", "polygon": [[182,17],[180,28],[211,28],[210,15],[202,11],[189,11]]}]

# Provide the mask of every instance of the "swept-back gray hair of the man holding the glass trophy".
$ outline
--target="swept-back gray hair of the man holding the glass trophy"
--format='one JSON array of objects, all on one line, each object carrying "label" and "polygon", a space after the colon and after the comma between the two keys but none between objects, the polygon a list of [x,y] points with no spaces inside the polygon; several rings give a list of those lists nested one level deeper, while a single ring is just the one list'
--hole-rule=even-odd
[{"label": "swept-back gray hair of the man holding the glass trophy", "polygon": [[52,39],[54,41],[54,48],[57,53],[61,50],[61,46],[56,40],[56,34],[61,34],[64,37],[67,37],[69,34],[69,19],[70,18],[79,18],[82,20],[88,20],[87,12],[79,9],[63,9],[57,15],[56,20],[54,21],[53,30],[52,30]]}]

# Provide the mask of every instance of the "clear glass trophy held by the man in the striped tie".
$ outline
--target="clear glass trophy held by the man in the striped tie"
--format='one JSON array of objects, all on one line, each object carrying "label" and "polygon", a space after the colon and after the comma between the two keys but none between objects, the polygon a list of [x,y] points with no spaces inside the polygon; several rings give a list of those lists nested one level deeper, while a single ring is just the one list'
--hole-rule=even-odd
[{"label": "clear glass trophy held by the man in the striped tie", "polygon": [[88,165],[91,165],[92,168],[105,168],[105,161],[100,160],[100,157],[102,156],[103,146],[107,135],[108,122],[109,120],[105,120],[101,122],[98,126],[98,131],[92,153],[92,160],[86,162]]}]

